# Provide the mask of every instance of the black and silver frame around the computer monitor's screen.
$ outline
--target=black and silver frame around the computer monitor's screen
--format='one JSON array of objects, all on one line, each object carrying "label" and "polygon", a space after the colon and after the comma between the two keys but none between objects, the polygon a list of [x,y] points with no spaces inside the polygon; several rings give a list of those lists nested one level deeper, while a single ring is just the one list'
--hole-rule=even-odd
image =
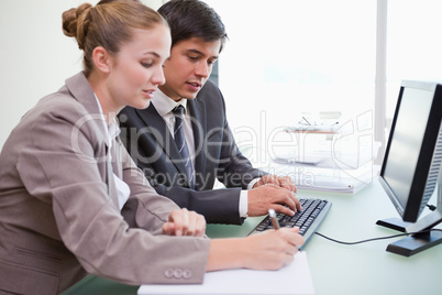
[{"label": "black and silver frame around the computer monitor's screen", "polygon": [[[385,171],[388,163],[391,140],[395,134],[397,118],[399,116],[400,106],[402,102],[404,91],[407,90],[407,88],[431,91],[432,102],[421,145],[417,146],[419,149],[419,156],[412,176],[410,193],[407,198],[407,204],[402,206],[402,204],[399,201],[399,198],[395,195],[395,192],[388,184],[388,181],[385,178]],[[404,221],[416,222],[422,211],[421,208],[423,194],[427,187],[428,176],[433,162],[433,154],[441,127],[441,110],[442,88],[440,84],[410,80],[405,80],[401,83],[395,116],[393,118],[391,129],[388,135],[388,142],[384,155],[383,165],[380,168],[379,183],[383,185],[385,192],[387,193],[388,197],[393,201]]]}]

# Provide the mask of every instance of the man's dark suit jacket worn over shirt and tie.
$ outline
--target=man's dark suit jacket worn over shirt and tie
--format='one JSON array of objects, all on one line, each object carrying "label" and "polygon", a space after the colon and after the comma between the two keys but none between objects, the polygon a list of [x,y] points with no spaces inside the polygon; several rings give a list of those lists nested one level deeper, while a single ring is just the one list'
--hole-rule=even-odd
[{"label": "man's dark suit jacket worn over shirt and tie", "polygon": [[[240,153],[218,86],[208,80],[187,108],[195,135],[195,190],[189,189],[174,139],[152,103],[147,109],[126,107],[120,112],[122,141],[158,194],[202,214],[210,223],[241,223],[240,190],[265,173]],[[216,178],[228,189],[212,190]]]}]

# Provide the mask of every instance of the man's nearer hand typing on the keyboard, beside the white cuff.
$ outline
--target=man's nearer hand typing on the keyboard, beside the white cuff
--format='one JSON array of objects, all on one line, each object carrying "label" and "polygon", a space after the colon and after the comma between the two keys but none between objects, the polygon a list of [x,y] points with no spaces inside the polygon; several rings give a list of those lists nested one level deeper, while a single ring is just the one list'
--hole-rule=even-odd
[{"label": "man's nearer hand typing on the keyboard, beside the white cuff", "polygon": [[248,190],[248,216],[266,215],[269,208],[288,216],[302,209],[296,193],[287,188],[266,184]]}]

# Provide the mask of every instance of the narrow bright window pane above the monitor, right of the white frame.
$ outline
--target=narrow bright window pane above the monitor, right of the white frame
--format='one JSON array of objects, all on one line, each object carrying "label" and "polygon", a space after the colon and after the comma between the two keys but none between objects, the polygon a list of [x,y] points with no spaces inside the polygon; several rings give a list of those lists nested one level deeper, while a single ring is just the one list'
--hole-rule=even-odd
[{"label": "narrow bright window pane above the monitor, right of the white frame", "polygon": [[442,2],[389,0],[387,25],[387,133],[402,79],[442,80]]}]

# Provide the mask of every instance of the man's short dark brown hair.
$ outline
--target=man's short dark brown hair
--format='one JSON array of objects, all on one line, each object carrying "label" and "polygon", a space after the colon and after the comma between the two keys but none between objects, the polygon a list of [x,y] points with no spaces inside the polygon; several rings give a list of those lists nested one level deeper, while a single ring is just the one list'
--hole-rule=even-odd
[{"label": "man's short dark brown hair", "polygon": [[191,37],[207,42],[221,40],[221,47],[228,39],[220,15],[200,0],[172,0],[158,9],[170,26],[172,46]]}]

